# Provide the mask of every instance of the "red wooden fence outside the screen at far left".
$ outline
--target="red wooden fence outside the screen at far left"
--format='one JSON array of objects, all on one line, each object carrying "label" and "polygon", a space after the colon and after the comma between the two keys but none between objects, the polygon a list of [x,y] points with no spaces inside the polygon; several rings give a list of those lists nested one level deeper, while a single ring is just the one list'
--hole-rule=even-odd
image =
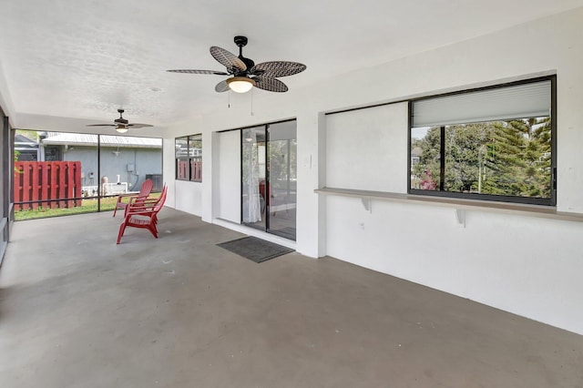
[{"label": "red wooden fence outside the screen at far left", "polygon": [[80,161],[16,161],[15,210],[81,206]]}]

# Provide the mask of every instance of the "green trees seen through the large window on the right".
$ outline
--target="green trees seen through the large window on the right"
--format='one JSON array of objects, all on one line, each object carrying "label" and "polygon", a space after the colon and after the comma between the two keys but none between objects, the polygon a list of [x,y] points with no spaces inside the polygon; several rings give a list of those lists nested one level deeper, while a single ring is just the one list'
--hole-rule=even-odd
[{"label": "green trees seen through the large window on the right", "polygon": [[[549,118],[447,126],[444,190],[549,198],[550,146]],[[412,147],[421,150],[412,187],[431,189],[428,179],[441,177],[441,128],[430,128]]]}]

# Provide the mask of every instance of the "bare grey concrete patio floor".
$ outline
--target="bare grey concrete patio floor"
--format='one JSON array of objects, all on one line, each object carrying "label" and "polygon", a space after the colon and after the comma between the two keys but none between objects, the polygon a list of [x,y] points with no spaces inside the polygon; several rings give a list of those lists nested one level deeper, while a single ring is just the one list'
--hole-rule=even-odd
[{"label": "bare grey concrete patio floor", "polygon": [[332,258],[256,264],[164,209],[15,223],[0,386],[581,387],[583,336]]}]

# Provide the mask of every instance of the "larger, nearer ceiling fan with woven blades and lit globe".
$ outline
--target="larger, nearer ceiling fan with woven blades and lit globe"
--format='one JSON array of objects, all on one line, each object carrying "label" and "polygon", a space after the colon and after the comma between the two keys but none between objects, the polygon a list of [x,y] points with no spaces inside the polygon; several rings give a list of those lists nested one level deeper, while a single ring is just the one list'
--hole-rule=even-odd
[{"label": "larger, nearer ceiling fan with woven blades and lit globe", "polygon": [[167,70],[172,73],[210,74],[216,76],[233,76],[220,81],[215,87],[217,92],[232,90],[237,93],[245,93],[252,87],[259,87],[270,92],[287,92],[288,87],[277,77],[293,76],[306,69],[305,65],[297,62],[271,61],[255,65],[250,58],[243,56],[243,47],[247,46],[246,36],[235,36],[235,45],[239,46],[239,56],[235,56],[224,48],[210,47],[210,55],[221,65],[227,67],[227,71],[215,70]]}]

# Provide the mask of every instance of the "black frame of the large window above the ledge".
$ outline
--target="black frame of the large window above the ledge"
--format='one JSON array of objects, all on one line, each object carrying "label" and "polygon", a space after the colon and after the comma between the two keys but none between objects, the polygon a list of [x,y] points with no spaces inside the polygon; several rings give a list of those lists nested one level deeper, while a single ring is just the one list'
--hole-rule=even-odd
[{"label": "black frame of the large window above the ledge", "polygon": [[[462,95],[470,92],[480,92],[489,89],[503,88],[503,87],[514,87],[518,85],[532,84],[541,81],[550,81],[550,130],[551,130],[551,158],[550,158],[550,198],[530,198],[530,197],[517,197],[517,196],[506,196],[506,195],[494,195],[494,194],[479,194],[479,193],[469,193],[469,192],[454,192],[445,190],[424,190],[424,189],[413,189],[411,187],[411,175],[412,175],[412,129],[414,124],[414,103],[416,101],[431,99],[436,97],[447,97],[454,95]],[[418,196],[429,196],[438,198],[452,198],[452,199],[475,199],[475,200],[486,200],[486,201],[496,201],[496,202],[507,202],[507,203],[519,203],[519,204],[529,204],[529,205],[544,205],[554,207],[557,205],[557,75],[551,75],[546,77],[536,77],[528,78],[524,80],[519,80],[515,82],[508,82],[504,84],[493,85],[489,87],[476,87],[471,89],[465,89],[461,91],[455,91],[451,93],[437,94],[426,97],[419,97],[410,99],[408,101],[409,106],[409,117],[408,117],[408,137],[407,137],[407,194],[418,195]],[[435,126],[437,127],[437,126]],[[441,143],[440,147],[440,158],[445,160],[445,147],[444,147],[444,133],[446,125],[439,126],[441,128]],[[443,165],[442,165],[443,166]],[[442,174],[444,171],[442,171]]]}]

